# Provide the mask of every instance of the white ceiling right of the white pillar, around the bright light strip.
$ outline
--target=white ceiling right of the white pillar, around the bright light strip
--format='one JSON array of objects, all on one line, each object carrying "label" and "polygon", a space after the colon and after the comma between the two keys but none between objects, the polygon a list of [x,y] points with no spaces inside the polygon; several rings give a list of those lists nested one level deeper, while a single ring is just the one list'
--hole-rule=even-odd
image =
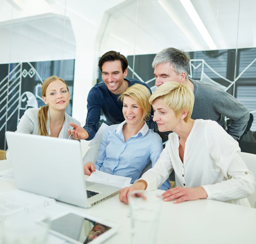
[{"label": "white ceiling right of the white pillar, around the bright light strip", "polygon": [[[127,54],[147,54],[169,46],[185,51],[211,50],[180,0],[125,3],[108,11],[108,25],[101,36],[102,53],[115,49]],[[191,0],[191,3],[215,43],[214,49],[256,46],[255,0]]]}]

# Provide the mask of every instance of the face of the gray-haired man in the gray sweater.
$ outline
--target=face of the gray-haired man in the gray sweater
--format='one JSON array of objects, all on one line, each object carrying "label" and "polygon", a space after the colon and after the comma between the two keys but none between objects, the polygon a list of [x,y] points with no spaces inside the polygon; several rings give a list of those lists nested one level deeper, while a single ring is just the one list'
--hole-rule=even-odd
[{"label": "face of the gray-haired man in the gray sweater", "polygon": [[[154,75],[156,78],[155,85],[158,87],[167,81],[175,81],[181,83],[185,73],[177,74],[169,62],[158,64],[155,67]],[[186,77],[186,74],[185,74]]]}]

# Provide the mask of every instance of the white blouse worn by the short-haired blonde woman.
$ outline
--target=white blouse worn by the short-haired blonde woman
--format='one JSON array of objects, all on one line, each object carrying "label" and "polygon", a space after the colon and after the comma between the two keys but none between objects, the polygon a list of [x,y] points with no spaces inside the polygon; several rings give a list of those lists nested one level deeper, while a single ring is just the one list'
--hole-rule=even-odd
[{"label": "white blouse worn by the short-haired blonde woman", "polygon": [[183,163],[179,145],[179,136],[169,134],[158,161],[140,178],[148,183],[148,191],[162,185],[174,169],[176,186],[203,186],[207,199],[250,206],[246,197],[254,193],[254,176],[239,155],[238,142],[217,122],[195,120]]}]

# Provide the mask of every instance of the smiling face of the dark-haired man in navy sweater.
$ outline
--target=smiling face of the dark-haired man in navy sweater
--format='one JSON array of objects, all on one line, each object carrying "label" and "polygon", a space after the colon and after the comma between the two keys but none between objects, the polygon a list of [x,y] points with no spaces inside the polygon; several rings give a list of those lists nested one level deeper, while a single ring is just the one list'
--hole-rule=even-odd
[{"label": "smiling face of the dark-haired man in navy sweater", "polygon": [[108,90],[114,94],[121,94],[127,88],[124,77],[127,76],[127,68],[122,70],[120,60],[106,61],[102,65],[102,79]]}]

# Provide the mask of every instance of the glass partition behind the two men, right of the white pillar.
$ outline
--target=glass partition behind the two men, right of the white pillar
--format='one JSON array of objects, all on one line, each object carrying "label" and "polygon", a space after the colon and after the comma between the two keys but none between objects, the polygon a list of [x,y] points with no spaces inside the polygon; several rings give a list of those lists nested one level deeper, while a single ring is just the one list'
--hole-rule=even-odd
[{"label": "glass partition behind the two men, right of the white pillar", "polygon": [[124,1],[105,13],[99,54],[123,53],[129,63],[127,77],[148,83],[154,91],[151,64],[156,53],[166,47],[188,52],[190,78],[227,91],[250,110],[239,143],[242,151],[256,153],[255,7],[249,0]]}]

